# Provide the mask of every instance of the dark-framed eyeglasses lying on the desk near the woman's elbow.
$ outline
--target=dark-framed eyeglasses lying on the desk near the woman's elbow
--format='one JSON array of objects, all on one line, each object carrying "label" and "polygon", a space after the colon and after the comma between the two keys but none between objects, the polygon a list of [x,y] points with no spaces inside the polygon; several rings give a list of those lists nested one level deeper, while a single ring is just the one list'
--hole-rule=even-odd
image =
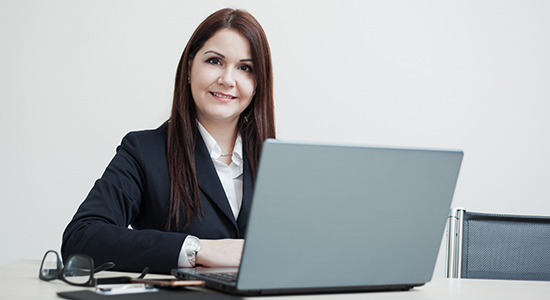
[{"label": "dark-framed eyeglasses lying on the desk near the woman's elbow", "polygon": [[[108,262],[94,269],[94,260],[86,254],[73,254],[69,256],[69,259],[65,262],[65,266],[63,266],[61,259],[59,259],[59,254],[54,250],[49,250],[42,259],[38,278],[45,281],[59,279],[71,285],[88,287],[98,284],[130,282],[130,277],[94,278],[95,273],[108,270],[114,266],[114,263]],[[145,277],[148,271],[149,268],[145,268],[139,278]]]}]

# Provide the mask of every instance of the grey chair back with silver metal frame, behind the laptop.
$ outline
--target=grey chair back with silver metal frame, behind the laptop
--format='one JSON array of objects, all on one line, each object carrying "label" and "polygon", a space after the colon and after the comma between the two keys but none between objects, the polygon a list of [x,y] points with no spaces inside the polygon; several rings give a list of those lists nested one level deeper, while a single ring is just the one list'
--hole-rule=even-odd
[{"label": "grey chair back with silver metal frame, behind the laptop", "polygon": [[446,277],[550,281],[550,217],[452,208]]}]

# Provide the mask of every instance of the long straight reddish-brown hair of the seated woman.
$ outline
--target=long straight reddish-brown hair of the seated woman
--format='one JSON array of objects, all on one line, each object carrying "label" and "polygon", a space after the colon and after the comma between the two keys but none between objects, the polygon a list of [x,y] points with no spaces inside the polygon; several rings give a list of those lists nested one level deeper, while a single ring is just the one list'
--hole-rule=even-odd
[{"label": "long straight reddish-brown hair of the seated woman", "polygon": [[267,138],[275,138],[273,74],[267,37],[258,21],[248,12],[230,8],[219,10],[197,27],[183,51],[176,73],[172,113],[167,122],[170,208],[166,229],[169,231],[180,228],[182,210],[185,214],[184,227],[201,213],[195,169],[195,144],[199,133],[195,103],[188,84],[188,67],[204,43],[224,28],[242,34],[248,40],[252,54],[256,94],[242,112],[237,130],[243,140],[243,151],[253,179],[256,177],[263,142]]}]

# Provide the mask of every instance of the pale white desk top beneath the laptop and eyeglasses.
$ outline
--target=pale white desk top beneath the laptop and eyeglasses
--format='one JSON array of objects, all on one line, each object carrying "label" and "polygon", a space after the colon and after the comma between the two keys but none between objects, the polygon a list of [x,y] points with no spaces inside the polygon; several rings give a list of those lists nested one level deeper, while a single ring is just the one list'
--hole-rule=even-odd
[{"label": "pale white desk top beneath the laptop and eyeglasses", "polygon": [[[60,280],[38,279],[38,260],[19,260],[0,266],[0,299],[60,299],[57,292],[82,290]],[[133,273],[102,272],[102,276]],[[99,277],[99,276],[98,276]],[[159,277],[147,275],[148,278]],[[165,277],[165,276],[163,276]],[[305,296],[280,296],[265,299],[550,299],[550,282],[434,278],[423,287],[406,292],[371,292]],[[261,297],[251,299],[262,299]]]}]

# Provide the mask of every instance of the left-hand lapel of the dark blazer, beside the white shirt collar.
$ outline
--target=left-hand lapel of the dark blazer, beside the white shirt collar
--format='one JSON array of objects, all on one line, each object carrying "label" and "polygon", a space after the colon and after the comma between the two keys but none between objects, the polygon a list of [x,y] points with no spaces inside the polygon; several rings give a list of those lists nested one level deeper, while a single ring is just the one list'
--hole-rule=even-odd
[{"label": "left-hand lapel of the dark blazer, beside the white shirt collar", "polygon": [[195,169],[197,170],[199,188],[237,227],[235,217],[229,206],[229,200],[227,200],[212,158],[200,134],[197,136],[197,144],[195,146]]}]

